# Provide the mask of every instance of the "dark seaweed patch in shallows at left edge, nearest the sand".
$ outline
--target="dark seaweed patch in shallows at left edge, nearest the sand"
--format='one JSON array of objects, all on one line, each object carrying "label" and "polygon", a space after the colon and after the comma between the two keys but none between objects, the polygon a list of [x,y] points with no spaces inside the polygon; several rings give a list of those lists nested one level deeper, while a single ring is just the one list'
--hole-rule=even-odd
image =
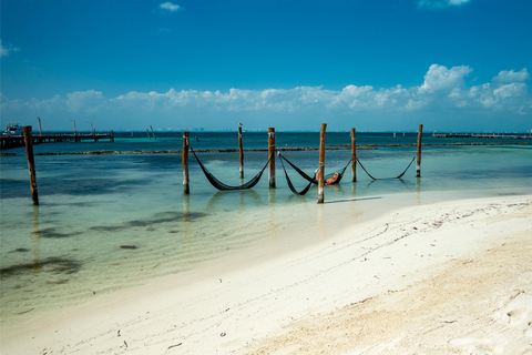
[{"label": "dark seaweed patch in shallows at left edge, nearest the sand", "polygon": [[0,278],[19,276],[32,272],[49,272],[54,274],[74,274],[81,268],[81,263],[64,257],[48,257],[31,263],[16,264],[0,268]]}]

